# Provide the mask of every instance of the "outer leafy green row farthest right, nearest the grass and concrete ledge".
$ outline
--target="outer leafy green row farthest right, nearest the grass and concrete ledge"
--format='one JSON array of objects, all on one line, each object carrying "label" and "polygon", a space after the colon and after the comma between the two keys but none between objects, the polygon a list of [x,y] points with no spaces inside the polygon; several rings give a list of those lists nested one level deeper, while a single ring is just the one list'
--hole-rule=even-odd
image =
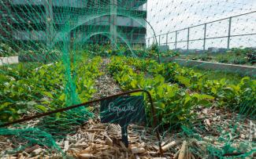
[{"label": "outer leafy green row farthest right, nearest the grass and concrete ledge", "polygon": [[[127,60],[124,60],[123,65],[126,63],[125,61]],[[141,61],[143,60],[132,60],[133,63],[130,61],[128,66],[132,67],[135,63],[136,65],[137,63],[142,63]],[[234,85],[225,78],[210,80],[206,74],[195,72],[195,70],[186,67],[180,67],[176,63],[147,63],[147,67],[150,68],[146,69],[148,70],[147,73],[151,74],[149,77],[157,77],[161,74],[165,78],[165,82],[169,81],[182,86],[184,89],[187,88],[193,92],[213,96],[213,99],[217,101],[220,107],[229,107],[230,109],[239,110],[241,114],[250,116],[256,114],[255,104],[251,103],[251,101],[255,101],[254,90],[256,80],[251,80],[247,77],[241,79],[239,84]],[[139,67],[136,68],[139,69]],[[242,108],[243,111],[241,110]]]}]

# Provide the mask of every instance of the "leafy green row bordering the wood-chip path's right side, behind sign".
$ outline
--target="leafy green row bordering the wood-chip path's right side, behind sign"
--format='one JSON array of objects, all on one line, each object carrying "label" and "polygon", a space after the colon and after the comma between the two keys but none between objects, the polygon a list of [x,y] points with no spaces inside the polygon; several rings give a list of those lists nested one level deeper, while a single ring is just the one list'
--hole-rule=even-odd
[{"label": "leafy green row bordering the wood-chip path's right side, behind sign", "polygon": [[[195,114],[191,109],[197,107],[198,104],[208,106],[210,100],[214,97],[195,93],[190,95],[184,89],[180,89],[179,85],[170,85],[165,82],[165,78],[159,74],[163,73],[165,67],[156,65],[156,63],[148,63],[151,74],[154,77],[147,77],[144,72],[136,73],[132,67],[132,62],[127,58],[113,57],[109,63],[108,69],[113,74],[114,79],[121,85],[123,90],[145,89],[150,92],[154,99],[157,108],[158,118],[161,120],[161,125],[180,125],[187,124]],[[141,61],[141,60],[139,60]],[[137,65],[138,63],[136,63]],[[147,114],[150,115],[150,107],[147,107]]]}]

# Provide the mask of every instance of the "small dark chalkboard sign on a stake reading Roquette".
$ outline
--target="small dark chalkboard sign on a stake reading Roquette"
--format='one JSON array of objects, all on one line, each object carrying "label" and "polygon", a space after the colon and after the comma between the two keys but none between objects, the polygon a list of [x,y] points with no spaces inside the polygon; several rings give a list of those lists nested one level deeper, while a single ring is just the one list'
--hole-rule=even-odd
[{"label": "small dark chalkboard sign on a stake reading Roquette", "polygon": [[132,123],[146,123],[143,96],[118,96],[102,100],[100,116],[102,123],[121,126],[123,142],[128,146],[127,126]]}]

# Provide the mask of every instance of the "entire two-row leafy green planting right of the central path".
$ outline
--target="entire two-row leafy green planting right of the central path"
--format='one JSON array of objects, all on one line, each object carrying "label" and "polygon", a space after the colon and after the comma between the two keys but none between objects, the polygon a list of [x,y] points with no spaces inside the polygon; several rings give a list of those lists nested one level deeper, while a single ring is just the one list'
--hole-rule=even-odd
[{"label": "entire two-row leafy green planting right of the central path", "polygon": [[146,89],[151,93],[161,125],[188,124],[196,116],[193,110],[213,105],[251,117],[256,114],[256,80],[248,77],[233,85],[176,63],[120,56],[111,59],[108,69],[123,90]]}]

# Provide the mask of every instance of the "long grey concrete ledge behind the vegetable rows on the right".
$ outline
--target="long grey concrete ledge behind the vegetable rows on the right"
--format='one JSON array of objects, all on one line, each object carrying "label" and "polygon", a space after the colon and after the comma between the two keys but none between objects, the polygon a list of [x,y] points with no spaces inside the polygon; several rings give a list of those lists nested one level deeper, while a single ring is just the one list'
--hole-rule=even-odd
[{"label": "long grey concrete ledge behind the vegetable rows on the right", "polygon": [[184,67],[197,67],[205,70],[221,70],[223,72],[231,72],[241,75],[247,75],[251,77],[256,77],[256,67],[228,64],[228,63],[212,63],[206,61],[197,60],[184,60],[184,59],[174,59],[173,62],[179,63]]}]

